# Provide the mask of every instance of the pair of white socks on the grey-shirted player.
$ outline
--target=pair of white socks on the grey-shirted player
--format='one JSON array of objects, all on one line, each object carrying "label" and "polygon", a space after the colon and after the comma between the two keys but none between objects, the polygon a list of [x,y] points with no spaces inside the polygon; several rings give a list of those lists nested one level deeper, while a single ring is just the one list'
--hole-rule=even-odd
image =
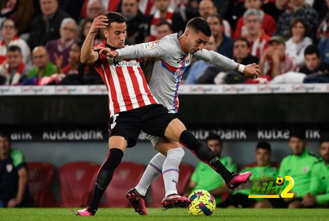
[{"label": "pair of white socks on the grey-shirted player", "polygon": [[179,176],[179,164],[184,156],[182,148],[174,148],[167,152],[167,157],[161,153],[156,154],[150,161],[138,185],[135,187],[137,192],[145,196],[151,182],[156,180],[161,173],[165,182],[166,196],[177,194],[176,185]]}]

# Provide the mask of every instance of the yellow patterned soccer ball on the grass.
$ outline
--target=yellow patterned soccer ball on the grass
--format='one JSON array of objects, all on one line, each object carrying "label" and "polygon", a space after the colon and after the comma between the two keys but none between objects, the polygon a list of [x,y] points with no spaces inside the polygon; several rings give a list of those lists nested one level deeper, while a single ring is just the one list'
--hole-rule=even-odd
[{"label": "yellow patterned soccer ball on the grass", "polygon": [[193,216],[210,216],[216,208],[214,196],[206,190],[194,191],[189,195],[189,199],[191,200],[191,204],[187,210]]}]

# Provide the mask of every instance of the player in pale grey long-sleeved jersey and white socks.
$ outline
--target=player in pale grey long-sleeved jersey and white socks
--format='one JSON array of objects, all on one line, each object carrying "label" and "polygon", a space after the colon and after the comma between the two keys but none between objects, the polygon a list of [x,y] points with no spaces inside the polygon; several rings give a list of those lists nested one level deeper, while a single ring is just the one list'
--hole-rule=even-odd
[{"label": "player in pale grey long-sleeved jersey and white socks", "polygon": [[[205,38],[203,30],[210,29],[208,23],[201,17],[195,17],[187,24],[186,31],[182,36],[177,33],[170,34],[161,39],[160,42],[149,42],[130,47],[107,51],[108,57],[120,59],[154,57],[156,61],[153,65],[152,76],[149,86],[151,93],[157,100],[168,108],[173,115],[178,112],[178,87],[182,73],[190,64],[192,56],[202,59],[211,64],[225,69],[235,69],[243,72],[246,76],[258,75],[260,73],[258,65],[251,64],[243,66],[231,59],[222,56],[214,51],[203,49],[209,41]],[[97,49],[98,50],[98,49]],[[145,72],[144,72],[145,74]],[[143,174],[138,185],[127,193],[127,198],[132,202],[135,210],[140,214],[147,213],[140,196],[144,196],[151,182],[153,182],[161,172],[165,181],[166,195],[162,200],[165,208],[184,207],[187,200],[177,194],[176,184],[178,180],[178,165],[184,152],[179,154],[182,146],[178,142],[170,141],[166,138],[147,135],[156,150],[168,149],[167,157],[157,154],[149,163],[147,170]],[[193,152],[193,151],[192,151]],[[172,156],[173,155],[173,156]],[[234,189],[229,185],[229,188]],[[135,197],[135,196],[138,197]]]}]

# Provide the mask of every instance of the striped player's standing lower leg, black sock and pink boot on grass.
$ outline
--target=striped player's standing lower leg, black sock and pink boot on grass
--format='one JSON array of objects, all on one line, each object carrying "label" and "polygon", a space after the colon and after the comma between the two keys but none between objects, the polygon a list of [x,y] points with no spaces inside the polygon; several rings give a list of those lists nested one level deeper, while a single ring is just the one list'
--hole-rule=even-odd
[{"label": "striped player's standing lower leg, black sock and pink boot on grass", "polygon": [[98,203],[104,191],[106,190],[109,182],[111,182],[114,170],[118,167],[123,157],[123,152],[120,149],[112,148],[108,151],[106,160],[101,165],[98,171],[97,179],[88,207],[83,210],[78,210],[76,215],[80,216],[93,216],[98,210]]}]

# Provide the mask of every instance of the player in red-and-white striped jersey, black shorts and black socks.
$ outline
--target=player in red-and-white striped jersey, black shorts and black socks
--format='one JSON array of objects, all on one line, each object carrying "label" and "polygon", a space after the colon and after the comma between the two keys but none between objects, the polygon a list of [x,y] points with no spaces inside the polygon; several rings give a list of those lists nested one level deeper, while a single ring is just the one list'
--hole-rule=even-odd
[{"label": "player in red-and-white striped jersey, black shorts and black socks", "polygon": [[[81,62],[94,64],[105,83],[108,90],[111,118],[107,157],[97,174],[92,199],[88,207],[78,210],[77,215],[95,215],[99,200],[111,182],[114,170],[121,162],[123,152],[126,148],[135,146],[141,130],[152,136],[165,137],[168,140],[182,143],[200,160],[221,174],[226,184],[231,188],[236,188],[241,183],[246,182],[251,175],[250,173],[237,174],[228,171],[206,144],[198,141],[193,134],[186,130],[185,125],[177,119],[177,116],[168,113],[168,109],[158,103],[151,94],[144,78],[139,58],[117,59],[105,55],[124,47],[125,22],[126,19],[116,12],[107,12],[105,16],[98,16],[94,20],[81,50]],[[105,46],[96,47],[93,50],[94,35],[99,28],[103,28],[107,43]],[[202,29],[202,27],[199,28]],[[193,50],[195,51],[202,49],[209,40],[211,35],[209,26],[199,31],[199,34],[202,34],[203,40],[193,43]],[[232,63],[231,68],[239,68],[239,64]],[[248,71],[249,75],[260,74],[259,69],[255,67],[246,66],[245,71]],[[157,150],[161,154],[167,155],[168,158],[171,149],[176,149],[176,146],[162,145]],[[181,151],[177,150],[180,155]],[[142,198],[136,200],[139,197],[137,192],[133,195],[135,197],[133,204],[144,205]],[[140,214],[147,214],[145,207],[141,209],[144,211],[138,211]]]}]

